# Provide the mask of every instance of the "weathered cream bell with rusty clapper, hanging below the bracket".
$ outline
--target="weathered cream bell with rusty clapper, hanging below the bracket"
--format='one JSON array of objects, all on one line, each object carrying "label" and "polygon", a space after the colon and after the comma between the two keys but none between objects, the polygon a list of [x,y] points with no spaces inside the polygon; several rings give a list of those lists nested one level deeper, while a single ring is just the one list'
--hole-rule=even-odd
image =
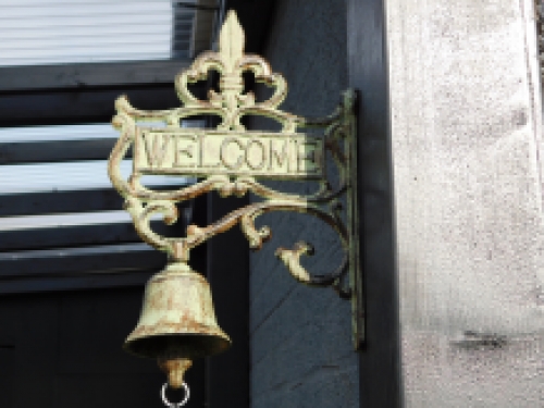
[{"label": "weathered cream bell with rusty clapper, hanging below the bracket", "polygon": [[188,264],[174,262],[147,283],[138,325],[123,348],[157,359],[170,385],[177,388],[195,358],[230,346],[231,338],[215,319],[210,285]]}]

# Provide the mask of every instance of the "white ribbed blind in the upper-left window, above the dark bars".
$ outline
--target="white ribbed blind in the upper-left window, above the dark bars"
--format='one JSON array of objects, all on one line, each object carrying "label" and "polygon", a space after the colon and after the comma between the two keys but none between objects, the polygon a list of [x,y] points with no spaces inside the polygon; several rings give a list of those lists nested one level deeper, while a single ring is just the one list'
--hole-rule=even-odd
[{"label": "white ribbed blind in the upper-left window, above the dark bars", "polygon": [[187,57],[196,10],[178,3],[3,0],[0,66]]}]

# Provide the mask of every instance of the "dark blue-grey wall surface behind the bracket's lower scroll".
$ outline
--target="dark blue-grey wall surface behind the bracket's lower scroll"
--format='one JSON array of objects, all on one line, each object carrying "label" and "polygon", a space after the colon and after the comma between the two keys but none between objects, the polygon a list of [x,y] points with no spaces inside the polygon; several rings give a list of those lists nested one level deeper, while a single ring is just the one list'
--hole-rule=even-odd
[{"label": "dark blue-grey wall surface behind the bracket's lower scroll", "polygon": [[[264,57],[289,84],[282,109],[311,116],[333,111],[347,82],[345,18],[342,0],[277,1]],[[254,123],[257,128],[269,125]],[[312,188],[273,185],[292,191]],[[308,215],[280,213],[259,220],[259,225],[272,227],[273,238],[250,259],[251,406],[357,407],[349,302],[331,289],[296,283],[273,255],[279,246],[305,239],[317,249],[305,263],[308,270],[331,272],[341,256],[335,234]]]}]

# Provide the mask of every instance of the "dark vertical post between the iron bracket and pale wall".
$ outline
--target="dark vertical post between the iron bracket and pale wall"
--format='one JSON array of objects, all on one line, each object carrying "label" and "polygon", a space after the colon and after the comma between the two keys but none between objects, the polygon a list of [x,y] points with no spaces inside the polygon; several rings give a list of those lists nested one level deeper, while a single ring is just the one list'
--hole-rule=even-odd
[{"label": "dark vertical post between the iron bracket and pale wall", "polygon": [[364,408],[403,404],[386,33],[384,0],[347,0],[348,81],[359,92],[359,231],[367,326],[359,384]]}]

